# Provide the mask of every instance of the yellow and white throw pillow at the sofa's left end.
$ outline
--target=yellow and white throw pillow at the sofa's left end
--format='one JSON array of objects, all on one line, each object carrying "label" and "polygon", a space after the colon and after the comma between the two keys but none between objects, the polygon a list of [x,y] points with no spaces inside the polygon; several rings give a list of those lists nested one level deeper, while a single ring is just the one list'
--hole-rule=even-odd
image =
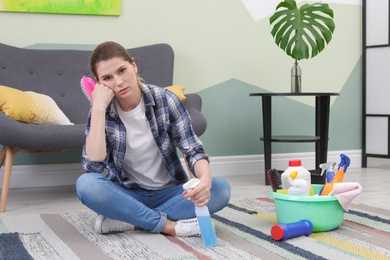
[{"label": "yellow and white throw pillow at the sofa's left end", "polygon": [[51,97],[1,85],[0,111],[28,124],[73,125]]}]

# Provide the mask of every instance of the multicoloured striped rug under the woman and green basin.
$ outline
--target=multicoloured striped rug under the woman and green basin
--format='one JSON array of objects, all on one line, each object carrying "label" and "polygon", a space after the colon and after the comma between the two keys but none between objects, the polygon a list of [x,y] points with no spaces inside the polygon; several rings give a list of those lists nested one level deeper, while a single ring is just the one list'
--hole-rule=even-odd
[{"label": "multicoloured striped rug under the woman and green basin", "polygon": [[390,259],[390,210],[357,203],[335,230],[275,241],[273,200],[233,200],[213,215],[213,248],[199,237],[98,235],[95,219],[91,211],[0,215],[0,259]]}]

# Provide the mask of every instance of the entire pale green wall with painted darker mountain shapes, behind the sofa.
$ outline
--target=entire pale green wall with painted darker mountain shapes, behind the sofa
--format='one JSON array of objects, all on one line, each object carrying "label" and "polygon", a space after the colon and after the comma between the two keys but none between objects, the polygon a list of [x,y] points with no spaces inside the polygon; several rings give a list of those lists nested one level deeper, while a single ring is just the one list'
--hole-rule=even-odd
[{"label": "entire pale green wall with painted darker mountain shapes, behind the sofa", "polygon": [[[361,149],[361,6],[330,7],[336,23],[333,39],[317,57],[300,62],[302,88],[340,92],[331,101],[329,150]],[[261,100],[249,93],[290,91],[293,60],[273,42],[268,18],[255,21],[240,0],[124,0],[119,17],[0,12],[1,42],[72,49],[106,40],[129,48],[169,43],[175,51],[174,83],[203,98],[208,128],[201,139],[208,153],[252,155],[263,152],[262,119]],[[275,99],[273,112],[277,134],[314,131],[313,98]],[[275,144],[273,151],[305,152],[313,146]],[[74,150],[18,154],[15,163],[79,160],[80,150]]]}]

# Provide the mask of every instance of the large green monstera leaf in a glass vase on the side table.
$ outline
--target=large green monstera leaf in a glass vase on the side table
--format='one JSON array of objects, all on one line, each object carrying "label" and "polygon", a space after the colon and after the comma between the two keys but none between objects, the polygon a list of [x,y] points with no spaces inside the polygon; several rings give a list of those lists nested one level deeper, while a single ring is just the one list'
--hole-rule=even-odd
[{"label": "large green monstera leaf in a glass vase on the side table", "polygon": [[270,17],[275,43],[295,60],[291,69],[292,92],[301,92],[298,61],[317,56],[332,40],[333,18],[333,10],[328,4],[304,4],[298,8],[295,0],[280,2]]}]

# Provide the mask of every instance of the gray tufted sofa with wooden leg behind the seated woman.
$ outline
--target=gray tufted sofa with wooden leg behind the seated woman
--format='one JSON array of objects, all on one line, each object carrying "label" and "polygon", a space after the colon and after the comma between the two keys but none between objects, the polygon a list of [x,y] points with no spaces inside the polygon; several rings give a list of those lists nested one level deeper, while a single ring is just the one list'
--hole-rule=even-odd
[{"label": "gray tufted sofa with wooden leg behind the seated woman", "polygon": [[[146,83],[160,87],[173,82],[174,53],[168,44],[129,49],[137,59],[139,75]],[[53,98],[74,125],[34,125],[15,121],[0,112],[0,167],[5,161],[0,211],[8,198],[13,156],[20,150],[44,151],[81,148],[85,142],[85,123],[89,102],[80,89],[82,76],[89,70],[91,51],[36,50],[0,43],[0,85],[34,91]],[[185,85],[182,83],[181,85]],[[201,136],[207,126],[201,114],[202,100],[187,94],[184,102],[194,130]]]}]

